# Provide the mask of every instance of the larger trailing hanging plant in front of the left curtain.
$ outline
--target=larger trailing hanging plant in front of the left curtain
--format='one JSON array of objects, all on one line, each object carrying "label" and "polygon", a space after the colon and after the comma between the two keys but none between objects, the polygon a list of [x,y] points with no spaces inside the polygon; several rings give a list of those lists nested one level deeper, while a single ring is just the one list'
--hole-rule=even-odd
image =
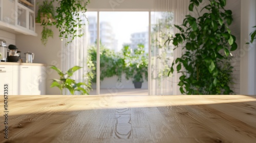
[{"label": "larger trailing hanging plant in front of the left curtain", "polygon": [[53,0],[58,2],[56,7],[56,22],[54,25],[59,29],[59,37],[66,39],[66,44],[72,42],[75,37],[81,37],[83,26],[86,25],[86,11],[89,1],[83,0]]}]

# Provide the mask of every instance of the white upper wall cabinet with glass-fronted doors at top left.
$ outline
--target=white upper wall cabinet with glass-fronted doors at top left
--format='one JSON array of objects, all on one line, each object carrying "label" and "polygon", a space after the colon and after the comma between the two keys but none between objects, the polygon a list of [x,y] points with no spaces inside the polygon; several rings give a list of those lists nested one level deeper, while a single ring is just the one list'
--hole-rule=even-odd
[{"label": "white upper wall cabinet with glass-fronted doors at top left", "polygon": [[15,34],[35,33],[35,0],[0,0],[0,29]]}]

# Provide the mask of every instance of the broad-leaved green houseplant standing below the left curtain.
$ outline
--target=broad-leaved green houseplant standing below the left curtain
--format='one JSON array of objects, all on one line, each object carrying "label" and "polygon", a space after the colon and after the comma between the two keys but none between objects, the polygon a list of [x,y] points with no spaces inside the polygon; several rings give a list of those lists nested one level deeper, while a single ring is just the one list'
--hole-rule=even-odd
[{"label": "broad-leaved green houseplant standing below the left curtain", "polygon": [[[79,91],[81,94],[89,93],[91,89],[90,84],[82,82],[76,83],[75,80],[70,78],[73,76],[76,70],[82,67],[74,66],[70,68],[66,73],[63,73],[59,68],[54,65],[52,65],[51,68],[57,71],[58,75],[60,76],[59,79],[53,79],[51,87],[58,87],[61,94],[63,93],[63,89],[65,88],[67,88],[72,95],[74,95],[75,91]],[[82,86],[84,86],[84,88]]]}]

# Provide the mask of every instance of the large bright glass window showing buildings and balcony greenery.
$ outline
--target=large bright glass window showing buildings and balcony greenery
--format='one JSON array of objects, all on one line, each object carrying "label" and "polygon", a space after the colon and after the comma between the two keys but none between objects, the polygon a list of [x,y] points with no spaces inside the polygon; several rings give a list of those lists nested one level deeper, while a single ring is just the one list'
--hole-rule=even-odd
[{"label": "large bright glass window showing buildings and balcony greenery", "polygon": [[[87,18],[96,64],[97,12],[88,12]],[[99,12],[100,94],[147,94],[148,18],[148,12]],[[94,77],[91,94],[96,93]],[[136,80],[142,81],[140,89]]]}]

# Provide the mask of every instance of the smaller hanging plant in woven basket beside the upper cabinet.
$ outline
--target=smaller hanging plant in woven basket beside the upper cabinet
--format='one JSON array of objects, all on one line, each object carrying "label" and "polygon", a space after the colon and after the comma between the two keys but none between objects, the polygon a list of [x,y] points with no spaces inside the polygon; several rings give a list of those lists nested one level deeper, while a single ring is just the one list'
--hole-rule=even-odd
[{"label": "smaller hanging plant in woven basket beside the upper cabinet", "polygon": [[36,22],[41,23],[41,26],[43,27],[41,32],[41,42],[44,45],[47,44],[49,37],[53,38],[53,31],[50,27],[55,21],[55,11],[52,3],[52,1],[44,1],[42,5],[39,5],[36,17]]}]

